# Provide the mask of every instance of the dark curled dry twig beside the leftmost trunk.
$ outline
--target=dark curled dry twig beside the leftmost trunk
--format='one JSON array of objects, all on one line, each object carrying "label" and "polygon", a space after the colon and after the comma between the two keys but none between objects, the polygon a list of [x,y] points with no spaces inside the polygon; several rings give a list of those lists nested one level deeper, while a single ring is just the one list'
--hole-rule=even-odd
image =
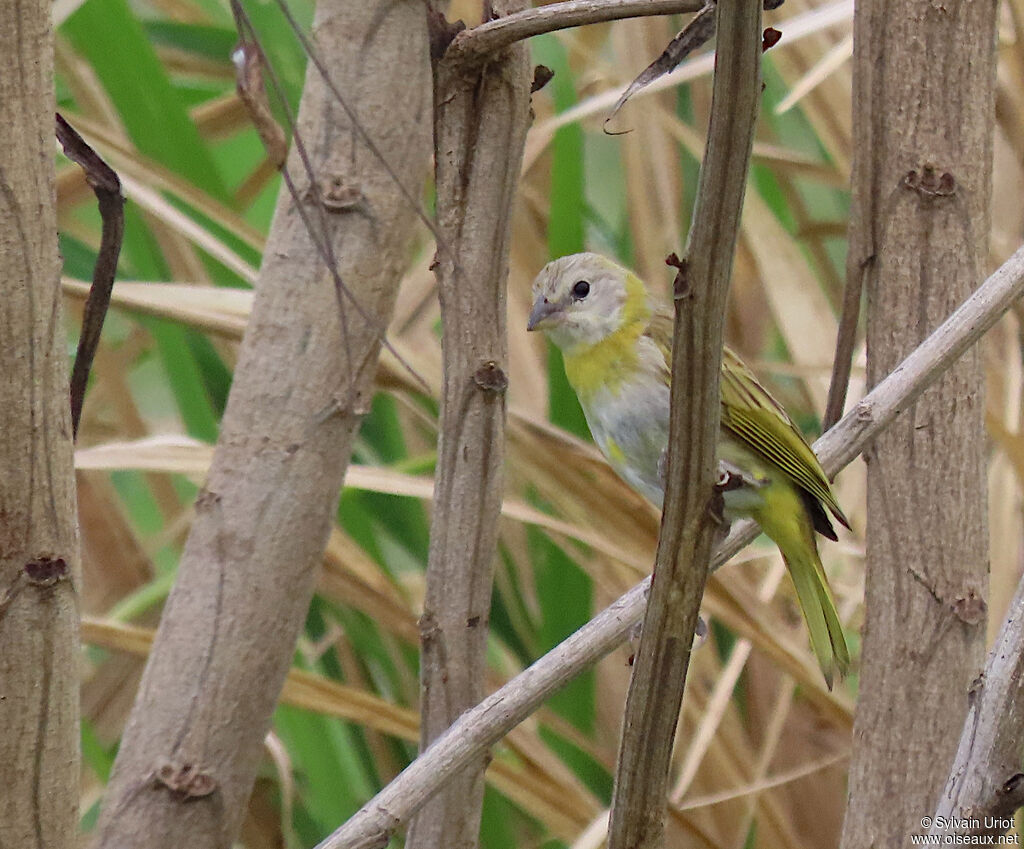
[{"label": "dark curled dry twig beside the leftmost trunk", "polygon": [[92,269],[92,287],[82,313],[82,331],[78,337],[78,352],[75,354],[75,368],[71,375],[71,428],[72,435],[78,436],[89,370],[92,368],[103,320],[111,305],[114,275],[118,270],[118,257],[124,241],[125,198],[121,194],[121,180],[115,170],[103,162],[99,154],[86,143],[60,113],[56,113],[56,134],[65,156],[85,171],[85,181],[96,195],[99,217],[103,222],[96,265]]}]

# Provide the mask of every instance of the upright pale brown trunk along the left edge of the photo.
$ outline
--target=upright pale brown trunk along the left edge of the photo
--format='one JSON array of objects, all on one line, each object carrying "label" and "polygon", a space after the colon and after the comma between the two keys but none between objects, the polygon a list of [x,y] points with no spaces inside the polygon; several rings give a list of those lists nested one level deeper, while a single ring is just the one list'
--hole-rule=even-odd
[{"label": "upright pale brown trunk along the left edge of the photo", "polygon": [[50,4],[0,6],[0,846],[78,831],[78,526]]}]

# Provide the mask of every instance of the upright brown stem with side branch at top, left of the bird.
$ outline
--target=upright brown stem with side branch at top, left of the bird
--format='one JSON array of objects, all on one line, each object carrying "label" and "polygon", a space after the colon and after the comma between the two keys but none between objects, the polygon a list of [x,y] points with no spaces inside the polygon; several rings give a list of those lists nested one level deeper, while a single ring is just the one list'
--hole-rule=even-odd
[{"label": "upright brown stem with side branch at top, left of the bird", "polygon": [[[524,7],[523,0],[500,0],[492,11],[501,16]],[[505,449],[505,283],[529,84],[524,44],[486,63],[442,57],[434,66],[443,381],[420,623],[423,749],[484,694]],[[475,768],[423,808],[410,830],[410,849],[477,844],[485,766],[481,753]]]}]

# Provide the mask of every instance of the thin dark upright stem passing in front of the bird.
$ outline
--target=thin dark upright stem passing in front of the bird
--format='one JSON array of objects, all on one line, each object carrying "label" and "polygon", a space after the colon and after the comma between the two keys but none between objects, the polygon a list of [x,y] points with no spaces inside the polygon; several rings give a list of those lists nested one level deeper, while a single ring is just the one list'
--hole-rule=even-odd
[{"label": "thin dark upright stem passing in front of the bird", "polygon": [[715,536],[726,298],[761,96],[761,2],[718,5],[708,145],[676,279],[665,509],[615,774],[609,849],[660,846],[669,762]]}]

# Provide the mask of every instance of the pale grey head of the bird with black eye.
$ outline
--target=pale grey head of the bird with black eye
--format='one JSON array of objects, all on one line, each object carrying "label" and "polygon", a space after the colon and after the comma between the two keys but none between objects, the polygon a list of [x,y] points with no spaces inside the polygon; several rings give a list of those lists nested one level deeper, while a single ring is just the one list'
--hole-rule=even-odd
[{"label": "pale grey head of the bird with black eye", "polygon": [[572,254],[549,262],[534,281],[526,330],[543,330],[570,351],[596,345],[651,313],[647,290],[632,271],[600,254]]}]

